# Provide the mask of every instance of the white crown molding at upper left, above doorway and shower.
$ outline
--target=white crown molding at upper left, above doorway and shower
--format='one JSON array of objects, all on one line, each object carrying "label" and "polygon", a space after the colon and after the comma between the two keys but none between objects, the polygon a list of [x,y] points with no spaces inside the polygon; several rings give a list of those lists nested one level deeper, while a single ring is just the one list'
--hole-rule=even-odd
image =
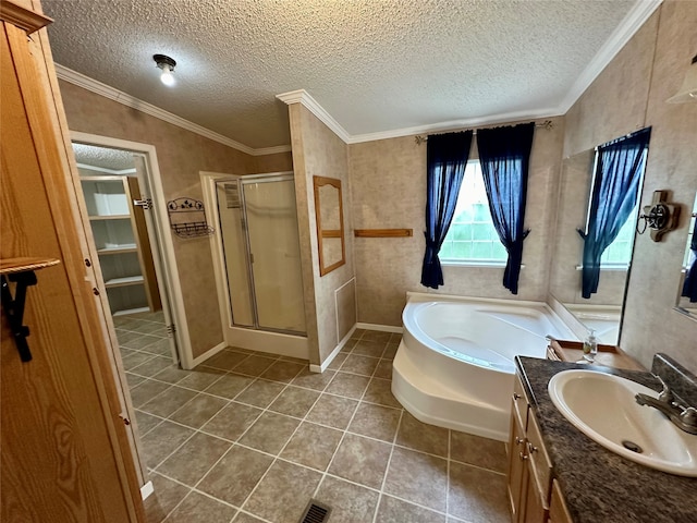
[{"label": "white crown molding at upper left, above doorway and shower", "polygon": [[171,112],[160,109],[159,107],[148,104],[147,101],[135,98],[134,96],[123,93],[122,90],[114,89],[110,85],[102,84],[101,82],[90,78],[89,76],[85,76],[77,71],[73,71],[72,69],[68,69],[58,63],[56,64],[56,74],[60,80],[82,87],[83,89],[87,89],[99,96],[109,98],[110,100],[118,101],[119,104],[122,104],[126,107],[136,109],[140,112],[145,112],[146,114],[155,117],[167,123],[171,123],[172,125],[176,125],[178,127],[185,129],[186,131],[191,131],[192,133],[196,133],[200,136],[212,139],[213,142],[218,142],[219,144],[227,145],[228,147],[232,147],[233,149],[237,149],[250,156],[276,155],[279,153],[289,153],[291,150],[290,145],[279,145],[276,147],[264,147],[254,149],[247,145],[241,144],[240,142],[223,136],[222,134],[218,134],[201,125],[189,122],[188,120],[184,120],[176,114],[172,114]]}]

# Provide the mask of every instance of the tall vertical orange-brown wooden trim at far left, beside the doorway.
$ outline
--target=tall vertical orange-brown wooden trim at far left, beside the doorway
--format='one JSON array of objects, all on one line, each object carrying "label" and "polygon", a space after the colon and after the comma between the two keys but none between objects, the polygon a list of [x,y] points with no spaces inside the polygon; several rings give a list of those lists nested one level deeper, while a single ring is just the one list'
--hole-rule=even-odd
[{"label": "tall vertical orange-brown wooden trim at far left, beside the doorway", "polygon": [[[32,0],[37,12],[40,12],[38,0]],[[117,392],[114,375],[110,368],[109,353],[113,352],[115,340],[105,335],[98,312],[97,301],[93,294],[94,277],[85,268],[86,248],[84,230],[78,217],[78,199],[74,187],[71,187],[71,172],[77,171],[71,163],[72,149],[66,142],[68,125],[58,81],[53,68],[52,54],[46,29],[38,32],[38,38],[33,38],[30,58],[26,59],[21,49],[27,46],[26,34],[22,40],[11,39],[11,48],[19,60],[15,71],[22,89],[27,111],[28,123],[36,139],[41,143],[36,147],[36,155],[44,170],[42,180],[49,198],[50,214],[57,223],[56,232],[60,243],[64,271],[70,281],[71,297],[76,308],[78,321],[85,340],[86,356],[91,367],[93,379],[101,404],[101,412],[95,416],[102,417],[111,441],[112,458],[119,471],[122,490],[112,491],[105,499],[121,497],[129,512],[129,521],[144,521],[145,513],[140,501],[137,473],[133,455],[129,449],[129,438],[120,414],[123,412],[120,397]],[[32,52],[33,51],[33,52]],[[20,63],[21,61],[21,63]],[[49,174],[50,173],[50,174]],[[72,188],[72,191],[71,191]],[[87,278],[86,278],[87,276]],[[93,275],[94,276],[94,275]],[[103,494],[103,490],[102,490]],[[108,503],[110,504],[111,501]]]}]

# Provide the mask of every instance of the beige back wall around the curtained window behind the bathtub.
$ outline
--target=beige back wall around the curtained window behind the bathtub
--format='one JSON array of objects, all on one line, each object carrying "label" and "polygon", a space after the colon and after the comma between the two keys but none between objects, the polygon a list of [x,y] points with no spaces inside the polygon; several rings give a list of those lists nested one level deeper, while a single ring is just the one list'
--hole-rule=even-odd
[{"label": "beige back wall around the curtained window behind the bathtub", "polygon": [[[525,224],[531,229],[523,251],[518,294],[502,284],[503,268],[443,266],[445,284],[433,293],[545,301],[551,256],[552,217],[564,124],[538,127],[530,153]],[[512,122],[516,123],[516,122]],[[470,158],[476,158],[473,146]],[[406,291],[420,284],[426,209],[426,145],[414,136],[350,146],[352,214],[356,229],[414,229],[414,236],[354,240],[358,321],[400,326]]]}]

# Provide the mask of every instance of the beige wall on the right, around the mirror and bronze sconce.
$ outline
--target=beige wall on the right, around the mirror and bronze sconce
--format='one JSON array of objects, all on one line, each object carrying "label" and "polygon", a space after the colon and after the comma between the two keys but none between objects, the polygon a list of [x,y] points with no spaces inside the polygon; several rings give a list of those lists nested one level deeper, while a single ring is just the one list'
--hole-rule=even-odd
[{"label": "beige wall on the right, around the mirror and bronze sconce", "polygon": [[643,203],[672,191],[684,215],[660,243],[638,236],[620,343],[650,366],[664,352],[697,373],[697,321],[673,309],[687,236],[687,209],[697,191],[697,104],[671,105],[697,52],[695,2],[667,0],[566,118],[565,154],[651,125]]}]

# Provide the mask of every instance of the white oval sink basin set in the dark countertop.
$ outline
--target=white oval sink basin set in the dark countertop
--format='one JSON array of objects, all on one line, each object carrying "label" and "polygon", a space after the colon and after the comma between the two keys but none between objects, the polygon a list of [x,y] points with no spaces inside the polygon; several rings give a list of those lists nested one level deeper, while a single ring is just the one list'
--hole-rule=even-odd
[{"label": "white oval sink basin set in the dark countertop", "polygon": [[637,392],[652,398],[658,392],[594,370],[561,372],[548,390],[564,417],[606,449],[651,469],[697,477],[697,436],[634,400]]}]

